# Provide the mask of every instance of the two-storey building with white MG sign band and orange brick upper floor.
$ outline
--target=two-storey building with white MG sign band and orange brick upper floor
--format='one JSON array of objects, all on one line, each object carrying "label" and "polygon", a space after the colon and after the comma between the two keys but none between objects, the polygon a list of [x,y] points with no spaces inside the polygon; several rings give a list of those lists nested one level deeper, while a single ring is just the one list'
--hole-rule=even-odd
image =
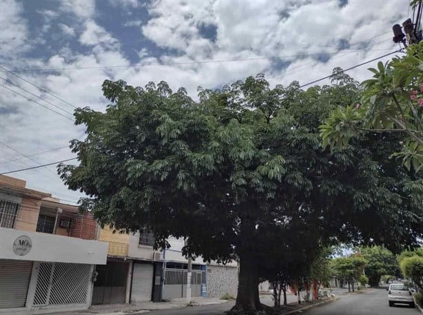
[{"label": "two-storey building with white MG sign band and orange brick upper floor", "polygon": [[74,205],[0,175],[0,314],[87,309],[107,243]]}]

